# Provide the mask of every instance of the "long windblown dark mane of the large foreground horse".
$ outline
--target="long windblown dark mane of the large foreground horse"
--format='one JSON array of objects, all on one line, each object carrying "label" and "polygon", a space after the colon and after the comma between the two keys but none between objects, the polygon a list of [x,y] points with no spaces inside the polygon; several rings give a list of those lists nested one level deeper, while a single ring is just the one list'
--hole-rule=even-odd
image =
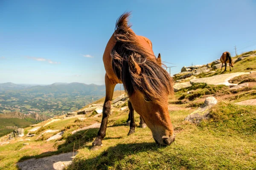
[{"label": "long windblown dark mane of the large foreground horse", "polygon": [[[138,90],[144,97],[159,105],[166,105],[169,95],[173,95],[173,80],[156,58],[139,42],[128,24],[130,13],[122,14],[116,21],[114,38],[116,44],[111,51],[112,67],[124,85],[128,96]],[[133,56],[141,68],[140,74],[129,69],[128,58]],[[154,56],[154,57],[152,57]]]}]

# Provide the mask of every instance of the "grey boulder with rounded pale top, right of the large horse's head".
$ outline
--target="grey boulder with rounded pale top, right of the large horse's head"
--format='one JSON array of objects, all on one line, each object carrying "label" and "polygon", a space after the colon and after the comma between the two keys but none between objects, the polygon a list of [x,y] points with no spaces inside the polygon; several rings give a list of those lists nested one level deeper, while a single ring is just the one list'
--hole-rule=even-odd
[{"label": "grey boulder with rounded pale top, right of the large horse's head", "polygon": [[204,101],[204,104],[198,108],[198,110],[192,112],[184,120],[192,122],[192,123],[200,123],[202,119],[209,119],[209,111],[212,106],[217,104],[217,99],[215,97],[210,96],[207,97]]}]

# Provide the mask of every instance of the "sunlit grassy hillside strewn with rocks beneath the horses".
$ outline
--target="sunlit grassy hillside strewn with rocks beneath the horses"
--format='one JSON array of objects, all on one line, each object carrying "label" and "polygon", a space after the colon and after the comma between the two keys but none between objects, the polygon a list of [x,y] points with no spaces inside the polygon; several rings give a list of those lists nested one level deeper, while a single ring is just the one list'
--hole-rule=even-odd
[{"label": "sunlit grassy hillside strewn with rocks beneath the horses", "polygon": [[[92,152],[90,147],[99,130],[104,99],[1,137],[0,169],[256,168],[256,68],[240,68],[252,68],[254,54],[236,59],[238,72],[212,69],[219,64],[216,60],[184,67],[175,75],[175,97],[169,99],[168,108],[177,139],[168,147],[157,147],[148,128],[137,127],[127,136],[128,98],[118,91],[102,150]],[[135,119],[138,124],[137,113]]]}]

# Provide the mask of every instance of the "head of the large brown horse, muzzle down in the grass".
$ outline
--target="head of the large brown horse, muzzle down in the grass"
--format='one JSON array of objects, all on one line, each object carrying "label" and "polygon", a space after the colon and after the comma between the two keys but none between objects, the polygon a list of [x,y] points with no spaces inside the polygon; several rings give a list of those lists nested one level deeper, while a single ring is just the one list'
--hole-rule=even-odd
[{"label": "head of the large brown horse, muzzle down in the grass", "polygon": [[175,140],[167,101],[172,94],[172,80],[160,66],[160,55],[146,60],[135,54],[128,58],[134,86],[129,100],[152,131],[155,142],[169,145]]}]

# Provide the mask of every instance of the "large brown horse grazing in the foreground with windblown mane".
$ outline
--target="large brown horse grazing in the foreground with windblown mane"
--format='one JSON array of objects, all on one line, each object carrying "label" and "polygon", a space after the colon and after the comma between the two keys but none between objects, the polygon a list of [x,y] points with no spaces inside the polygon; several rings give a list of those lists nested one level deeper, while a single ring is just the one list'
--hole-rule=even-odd
[{"label": "large brown horse grazing in the foreground with windblown mane", "polygon": [[134,110],[150,128],[155,142],[169,145],[175,134],[168,111],[168,96],[174,94],[173,80],[161,67],[161,58],[156,58],[151,41],[138,36],[128,24],[130,13],[122,14],[103,54],[105,66],[106,97],[103,105],[102,122],[91,150],[102,146],[106,136],[111,100],[117,83],[123,83],[129,96],[130,131],[134,133]]}]

